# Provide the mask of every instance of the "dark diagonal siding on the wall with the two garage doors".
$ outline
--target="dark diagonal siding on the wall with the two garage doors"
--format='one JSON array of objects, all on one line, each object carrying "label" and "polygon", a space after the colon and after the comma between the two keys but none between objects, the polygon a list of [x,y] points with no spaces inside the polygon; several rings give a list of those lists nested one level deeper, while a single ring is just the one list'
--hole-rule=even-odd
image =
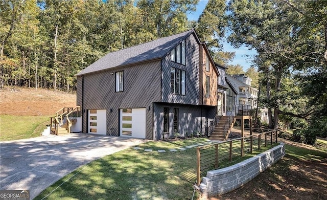
[{"label": "dark diagonal siding on the wall with the two garage doors", "polygon": [[[115,92],[115,72],[120,71],[124,71],[124,92]],[[107,135],[119,136],[119,109],[146,108],[146,138],[153,139],[151,110],[152,102],[160,101],[160,79],[160,61],[84,75],[85,125],[82,131],[87,132],[88,109],[106,109]],[[78,99],[81,101],[79,94]]]}]

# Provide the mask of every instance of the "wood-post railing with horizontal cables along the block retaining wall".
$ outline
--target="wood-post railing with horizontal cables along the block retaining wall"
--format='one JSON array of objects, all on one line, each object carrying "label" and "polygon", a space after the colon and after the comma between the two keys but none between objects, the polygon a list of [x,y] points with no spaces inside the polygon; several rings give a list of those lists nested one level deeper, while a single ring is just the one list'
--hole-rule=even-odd
[{"label": "wood-post railing with horizontal cables along the block retaining wall", "polygon": [[262,146],[267,147],[267,144],[272,146],[277,143],[277,134],[278,130],[271,130],[242,138],[198,146],[196,148],[197,184],[200,185],[201,176],[207,171],[226,167],[230,162],[243,158],[245,154],[251,154],[253,149],[260,150]]}]

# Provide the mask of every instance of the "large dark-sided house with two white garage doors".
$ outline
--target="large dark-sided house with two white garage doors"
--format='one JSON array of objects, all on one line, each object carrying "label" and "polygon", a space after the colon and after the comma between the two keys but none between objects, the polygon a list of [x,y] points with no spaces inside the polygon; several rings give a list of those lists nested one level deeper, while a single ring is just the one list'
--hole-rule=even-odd
[{"label": "large dark-sided house with two white garage doors", "polygon": [[153,140],[204,132],[227,90],[218,71],[194,30],[109,53],[76,75],[82,132]]}]

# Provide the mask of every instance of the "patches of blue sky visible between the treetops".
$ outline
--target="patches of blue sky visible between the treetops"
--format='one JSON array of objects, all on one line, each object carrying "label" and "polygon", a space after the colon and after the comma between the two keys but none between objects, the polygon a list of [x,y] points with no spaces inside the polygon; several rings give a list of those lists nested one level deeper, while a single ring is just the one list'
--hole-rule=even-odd
[{"label": "patches of blue sky visible between the treetops", "polygon": [[[200,14],[203,12],[206,4],[208,3],[207,0],[200,0],[197,9],[193,13],[188,13],[189,20],[198,20]],[[243,66],[243,70],[246,71],[252,64],[253,56],[255,55],[255,51],[247,50],[246,47],[242,46],[239,49],[235,49],[229,45],[226,41],[223,42],[223,49],[224,51],[228,52],[235,52],[235,58],[233,61],[229,62],[228,64],[240,64]],[[247,56],[249,55],[249,56]]]}]

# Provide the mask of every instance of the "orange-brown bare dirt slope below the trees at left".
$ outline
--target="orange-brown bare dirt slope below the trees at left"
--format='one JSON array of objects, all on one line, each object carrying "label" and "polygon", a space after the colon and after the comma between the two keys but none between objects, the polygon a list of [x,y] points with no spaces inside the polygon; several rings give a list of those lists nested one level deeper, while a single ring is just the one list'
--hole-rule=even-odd
[{"label": "orange-brown bare dirt slope below the trees at left", "polygon": [[76,107],[76,94],[25,87],[0,90],[0,115],[49,116],[62,107]]}]

